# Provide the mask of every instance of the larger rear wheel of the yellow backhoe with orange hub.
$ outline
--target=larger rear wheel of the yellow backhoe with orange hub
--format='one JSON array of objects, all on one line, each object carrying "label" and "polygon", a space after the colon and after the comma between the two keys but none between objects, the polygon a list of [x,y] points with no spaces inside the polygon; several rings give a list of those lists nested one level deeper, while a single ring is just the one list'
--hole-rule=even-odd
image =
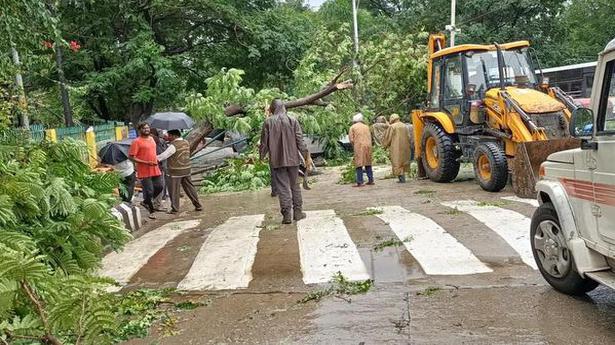
[{"label": "larger rear wheel of the yellow backhoe with orange hub", "polygon": [[459,174],[459,153],[453,138],[442,128],[433,123],[425,125],[423,138],[423,167],[430,180],[434,182],[451,182]]}]

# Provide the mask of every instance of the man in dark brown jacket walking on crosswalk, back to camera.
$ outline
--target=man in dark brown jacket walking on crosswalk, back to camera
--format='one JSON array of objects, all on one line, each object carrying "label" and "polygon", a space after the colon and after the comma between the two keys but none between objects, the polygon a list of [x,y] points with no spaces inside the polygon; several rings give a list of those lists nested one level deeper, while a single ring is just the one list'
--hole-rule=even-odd
[{"label": "man in dark brown jacket walking on crosswalk, back to camera", "polygon": [[302,155],[307,156],[307,147],[303,142],[303,133],[299,122],[288,116],[286,107],[280,99],[271,102],[269,116],[263,124],[260,158],[269,155],[269,164],[273,169],[272,178],[280,200],[282,224],[290,224],[306,217],[303,213],[301,188],[297,184],[299,165]]}]

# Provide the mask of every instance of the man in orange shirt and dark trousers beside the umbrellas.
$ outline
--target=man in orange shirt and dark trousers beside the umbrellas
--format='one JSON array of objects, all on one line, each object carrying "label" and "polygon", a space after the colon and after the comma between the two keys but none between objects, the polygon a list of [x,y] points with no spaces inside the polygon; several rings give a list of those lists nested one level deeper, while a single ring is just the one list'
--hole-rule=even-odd
[{"label": "man in orange shirt and dark trousers beside the umbrellas", "polygon": [[154,218],[155,211],[152,200],[162,192],[162,173],[158,167],[156,157],[156,142],[150,135],[147,123],[137,126],[139,137],[132,142],[128,156],[135,163],[137,177],[141,179],[143,186],[143,205],[147,207],[150,218]]}]

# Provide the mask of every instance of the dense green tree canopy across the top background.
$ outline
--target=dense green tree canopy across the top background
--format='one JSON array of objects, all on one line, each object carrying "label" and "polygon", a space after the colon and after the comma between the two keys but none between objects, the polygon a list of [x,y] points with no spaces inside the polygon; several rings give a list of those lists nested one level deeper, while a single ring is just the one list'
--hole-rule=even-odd
[{"label": "dense green tree canopy across the top background", "polygon": [[[241,83],[254,95],[277,90],[298,97],[322,87],[355,58],[351,0],[329,0],[318,10],[301,0],[1,4],[5,126],[16,123],[17,111],[11,47],[23,62],[28,112],[50,126],[63,122],[54,44],[64,47],[70,106],[85,123],[134,123],[154,111],[186,109],[223,70],[242,71]],[[457,6],[457,42],[529,39],[543,66],[586,62],[612,38],[614,14],[615,5],[606,0],[468,0]],[[360,70],[352,72],[361,79],[354,91],[331,96],[334,109],[309,110],[316,119],[308,121],[315,124],[326,111],[407,114],[423,99],[426,33],[443,31],[449,18],[449,0],[361,1]],[[219,101],[223,107],[230,100]]]}]

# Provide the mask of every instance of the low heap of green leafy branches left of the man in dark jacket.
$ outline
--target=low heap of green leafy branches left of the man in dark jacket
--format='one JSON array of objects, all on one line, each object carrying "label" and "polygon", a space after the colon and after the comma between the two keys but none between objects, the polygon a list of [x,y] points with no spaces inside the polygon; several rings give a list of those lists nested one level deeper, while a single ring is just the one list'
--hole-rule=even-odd
[{"label": "low heap of green leafy branches left of the man in dark jacket", "polygon": [[258,190],[271,183],[269,165],[254,154],[227,160],[227,166],[203,180],[205,193]]}]

